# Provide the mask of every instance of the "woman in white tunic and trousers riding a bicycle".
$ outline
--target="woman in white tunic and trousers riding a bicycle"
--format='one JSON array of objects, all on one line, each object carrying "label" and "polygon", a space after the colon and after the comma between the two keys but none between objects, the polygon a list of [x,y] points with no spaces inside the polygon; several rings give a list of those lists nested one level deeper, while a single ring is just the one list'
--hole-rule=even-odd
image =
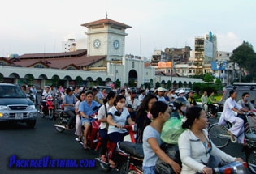
[{"label": "woman in white tunic and trousers riding a bicycle", "polygon": [[[232,123],[232,127],[228,130],[228,134],[234,137],[237,137],[237,142],[243,144],[245,139],[245,134],[241,134],[244,131],[244,118],[242,114],[243,112],[248,112],[247,109],[242,108],[241,105],[236,103],[236,90],[229,91],[229,98],[225,101],[223,112],[219,118],[219,125],[224,125],[226,121]],[[238,113],[237,117],[235,113]]]}]

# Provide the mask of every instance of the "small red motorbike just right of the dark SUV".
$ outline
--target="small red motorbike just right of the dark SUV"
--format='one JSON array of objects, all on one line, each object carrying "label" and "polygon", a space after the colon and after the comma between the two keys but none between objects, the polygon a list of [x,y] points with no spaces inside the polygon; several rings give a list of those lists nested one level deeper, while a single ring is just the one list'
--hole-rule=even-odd
[{"label": "small red motorbike just right of the dark SUV", "polygon": [[46,100],[42,100],[46,105],[40,104],[41,117],[49,116],[50,120],[54,118],[54,102],[52,97],[47,97]]}]

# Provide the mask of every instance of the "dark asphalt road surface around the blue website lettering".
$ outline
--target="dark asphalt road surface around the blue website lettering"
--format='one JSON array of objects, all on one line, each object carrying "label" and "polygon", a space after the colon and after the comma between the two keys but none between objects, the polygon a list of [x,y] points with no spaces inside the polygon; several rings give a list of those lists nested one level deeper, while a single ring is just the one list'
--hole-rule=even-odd
[{"label": "dark asphalt road surface around the blue website lettering", "polygon": [[[54,129],[54,121],[37,118],[35,129],[28,129],[24,124],[7,125],[0,123],[0,173],[37,173],[37,174],[66,174],[66,173],[105,173],[98,166],[95,168],[9,168],[12,155],[19,159],[94,159],[96,152],[85,151],[75,141],[74,131],[59,133]],[[241,153],[241,146],[229,144],[224,151],[245,159]],[[117,172],[109,172],[117,173]]]}]

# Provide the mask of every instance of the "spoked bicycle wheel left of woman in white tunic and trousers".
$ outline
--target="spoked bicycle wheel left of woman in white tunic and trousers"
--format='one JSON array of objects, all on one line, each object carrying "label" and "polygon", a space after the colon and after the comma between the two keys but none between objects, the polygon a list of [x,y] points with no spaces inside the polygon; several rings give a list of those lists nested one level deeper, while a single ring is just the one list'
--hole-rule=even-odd
[{"label": "spoked bicycle wheel left of woman in white tunic and trousers", "polygon": [[228,145],[229,138],[222,138],[219,136],[220,134],[228,135],[228,129],[223,125],[218,125],[217,123],[211,125],[208,132],[211,142],[213,142],[218,148],[221,149]]}]

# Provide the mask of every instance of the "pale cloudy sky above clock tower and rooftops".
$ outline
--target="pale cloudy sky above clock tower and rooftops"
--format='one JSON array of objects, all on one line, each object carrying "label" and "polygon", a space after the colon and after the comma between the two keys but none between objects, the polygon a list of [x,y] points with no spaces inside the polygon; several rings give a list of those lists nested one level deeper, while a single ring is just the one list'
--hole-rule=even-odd
[{"label": "pale cloudy sky above clock tower and rooftops", "polygon": [[108,18],[125,23],[125,54],[151,57],[154,50],[194,49],[210,31],[218,51],[245,40],[256,47],[255,0],[0,0],[0,57],[59,53],[62,41],[83,40],[81,24]]}]

